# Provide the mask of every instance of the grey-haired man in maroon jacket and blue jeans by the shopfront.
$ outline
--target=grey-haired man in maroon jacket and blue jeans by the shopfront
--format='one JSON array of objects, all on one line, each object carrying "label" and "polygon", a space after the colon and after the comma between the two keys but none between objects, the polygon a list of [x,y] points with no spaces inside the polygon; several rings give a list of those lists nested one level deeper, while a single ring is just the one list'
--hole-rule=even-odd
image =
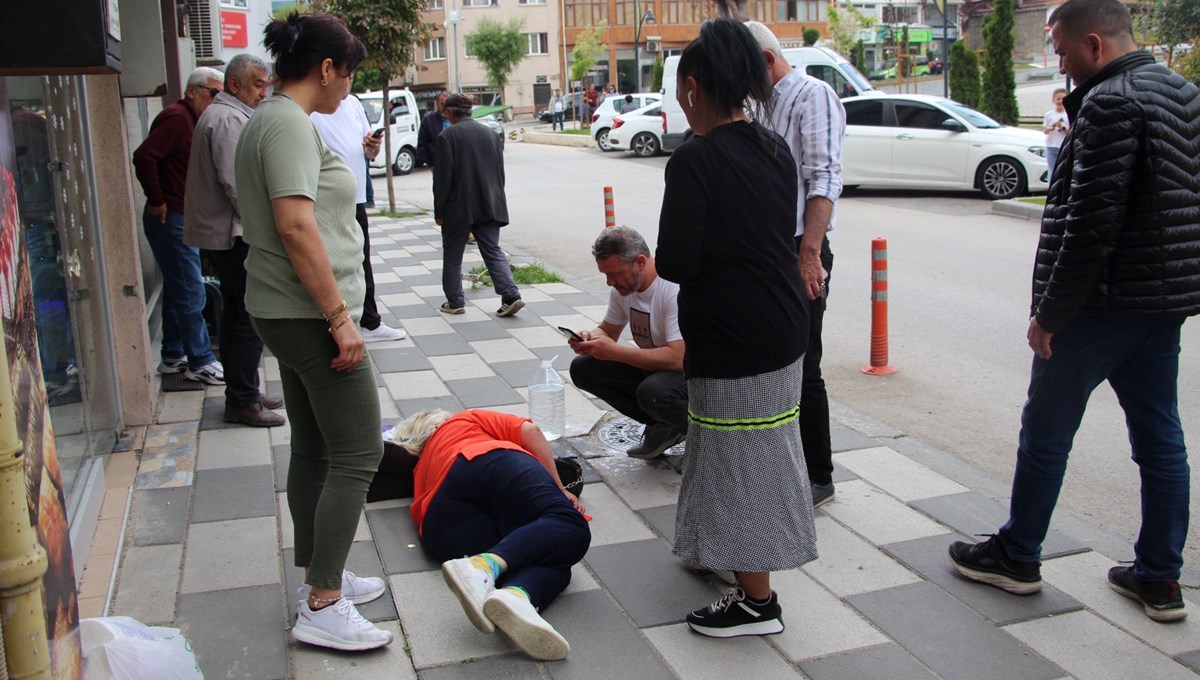
[{"label": "grey-haired man in maroon jacket and blue jeans by the shopfront", "polygon": [[196,121],[221,91],[220,71],[200,67],[187,77],[184,98],[162,109],[133,151],[146,207],[142,228],[162,272],[162,362],[160,373],[224,385],[224,367],[212,354],[204,325],[200,253],[184,243],[184,193]]}]

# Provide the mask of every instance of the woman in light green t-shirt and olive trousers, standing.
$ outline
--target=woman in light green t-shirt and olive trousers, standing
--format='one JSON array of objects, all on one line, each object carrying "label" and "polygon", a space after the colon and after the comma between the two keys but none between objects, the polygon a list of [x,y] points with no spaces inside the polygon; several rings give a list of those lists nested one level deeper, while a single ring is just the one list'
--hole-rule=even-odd
[{"label": "woman in light green t-shirt and olive trousers, standing", "polygon": [[278,88],[242,130],[235,171],[250,243],[246,309],[278,360],[292,421],[288,509],[295,565],[308,586],[292,637],[376,649],[392,634],[355,604],[382,597],[386,585],[346,571],[383,457],[379,391],[358,324],[366,291],[358,182],[308,118],[337,110],[366,49],[341,20],[319,12],[292,12],[264,34]]}]

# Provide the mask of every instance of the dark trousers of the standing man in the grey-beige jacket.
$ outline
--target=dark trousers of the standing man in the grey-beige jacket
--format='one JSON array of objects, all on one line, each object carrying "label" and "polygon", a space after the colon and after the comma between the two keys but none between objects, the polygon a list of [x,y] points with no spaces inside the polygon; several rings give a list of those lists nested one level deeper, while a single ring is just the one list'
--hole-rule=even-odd
[{"label": "dark trousers of the standing man in the grey-beige jacket", "polygon": [[226,373],[226,408],[257,404],[258,363],[263,359],[263,341],[250,325],[246,312],[246,254],[250,246],[234,239],[228,251],[204,251],[221,279],[221,365]]}]

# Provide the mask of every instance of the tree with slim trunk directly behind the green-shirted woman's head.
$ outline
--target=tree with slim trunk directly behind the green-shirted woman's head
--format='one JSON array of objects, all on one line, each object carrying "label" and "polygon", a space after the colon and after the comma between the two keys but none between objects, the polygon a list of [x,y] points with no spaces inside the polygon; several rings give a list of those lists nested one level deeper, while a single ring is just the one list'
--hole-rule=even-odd
[{"label": "tree with slim trunk directly behind the green-shirted woman's head", "polygon": [[379,71],[384,102],[383,154],[384,167],[388,169],[388,210],[395,212],[396,189],[391,173],[395,155],[391,151],[391,95],[388,89],[392,78],[413,65],[413,50],[428,42],[433,24],[421,22],[424,0],[323,0],[317,8],[346,22],[346,28],[367,48],[367,59],[362,66]]}]

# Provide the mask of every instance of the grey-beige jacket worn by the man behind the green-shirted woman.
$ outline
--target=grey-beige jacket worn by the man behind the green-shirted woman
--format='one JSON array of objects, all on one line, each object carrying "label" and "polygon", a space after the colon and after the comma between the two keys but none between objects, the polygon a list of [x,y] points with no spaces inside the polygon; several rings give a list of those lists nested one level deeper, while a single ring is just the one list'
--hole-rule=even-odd
[{"label": "grey-beige jacket worn by the man behind the green-shirted woman", "polygon": [[241,236],[233,160],[241,128],[253,113],[238,97],[220,92],[196,122],[184,194],[184,242],[188,246],[228,251]]}]

